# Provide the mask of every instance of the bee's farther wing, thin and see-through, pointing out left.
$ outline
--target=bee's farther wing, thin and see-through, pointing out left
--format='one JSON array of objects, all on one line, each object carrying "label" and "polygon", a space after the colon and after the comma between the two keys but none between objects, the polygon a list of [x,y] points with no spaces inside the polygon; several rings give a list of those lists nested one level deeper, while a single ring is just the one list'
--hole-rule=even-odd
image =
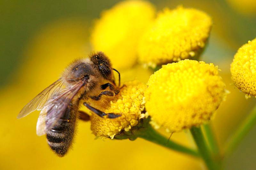
[{"label": "bee's farther wing, thin and see-through, pointing out left", "polygon": [[60,91],[63,83],[61,79],[58,79],[51,85],[49,85],[46,89],[40,92],[34,99],[32,99],[25,107],[22,108],[19,115],[17,116],[18,119],[27,116],[31,112],[35,110],[41,110],[44,106],[44,103],[51,97],[51,94],[56,91]]}]

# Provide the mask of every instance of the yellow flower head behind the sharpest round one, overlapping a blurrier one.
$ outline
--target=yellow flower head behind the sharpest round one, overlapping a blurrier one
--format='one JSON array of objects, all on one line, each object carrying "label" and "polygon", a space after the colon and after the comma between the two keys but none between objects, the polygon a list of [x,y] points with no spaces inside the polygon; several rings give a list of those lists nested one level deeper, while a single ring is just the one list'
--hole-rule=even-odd
[{"label": "yellow flower head behind the sharpest round one, overlapping a blurrier one", "polygon": [[212,19],[204,12],[179,6],[158,14],[139,43],[139,59],[155,67],[199,53],[209,37]]}]

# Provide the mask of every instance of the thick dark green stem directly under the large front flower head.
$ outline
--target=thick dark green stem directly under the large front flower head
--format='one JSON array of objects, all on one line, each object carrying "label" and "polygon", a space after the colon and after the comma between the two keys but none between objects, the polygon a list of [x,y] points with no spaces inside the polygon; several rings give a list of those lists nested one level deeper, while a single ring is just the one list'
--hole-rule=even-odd
[{"label": "thick dark green stem directly under the large front flower head", "polygon": [[206,145],[206,141],[204,139],[204,135],[202,133],[201,128],[192,127],[190,129],[190,132],[194,137],[198,151],[201,154],[202,158],[204,159],[204,162],[208,167],[208,169],[209,170],[220,169],[219,165],[216,162],[214,162],[214,160],[212,159],[211,153],[209,151],[209,148]]}]

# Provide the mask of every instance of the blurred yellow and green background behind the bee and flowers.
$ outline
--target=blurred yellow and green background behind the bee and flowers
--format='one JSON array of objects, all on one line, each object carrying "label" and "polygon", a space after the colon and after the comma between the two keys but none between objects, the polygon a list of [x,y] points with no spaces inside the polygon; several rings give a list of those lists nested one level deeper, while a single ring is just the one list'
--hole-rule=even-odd
[{"label": "blurred yellow and green background behind the bee and flowers", "polygon": [[[140,139],[133,142],[94,140],[89,123],[84,122],[79,124],[74,151],[57,158],[49,150],[45,138],[36,136],[37,114],[16,120],[22,106],[58,78],[67,63],[90,52],[88,38],[93,20],[117,2],[0,1],[0,169],[200,169],[200,160]],[[218,142],[223,146],[255,104],[255,98],[245,100],[244,94],[232,85],[229,66],[236,50],[256,37],[256,1],[150,2],[157,10],[183,4],[212,17],[212,33],[201,60],[219,66],[227,89],[231,91],[213,120]],[[256,127],[227,159],[226,169],[255,169],[255,134]],[[190,139],[188,136],[187,132],[182,132],[172,138],[182,143],[184,138]]]}]

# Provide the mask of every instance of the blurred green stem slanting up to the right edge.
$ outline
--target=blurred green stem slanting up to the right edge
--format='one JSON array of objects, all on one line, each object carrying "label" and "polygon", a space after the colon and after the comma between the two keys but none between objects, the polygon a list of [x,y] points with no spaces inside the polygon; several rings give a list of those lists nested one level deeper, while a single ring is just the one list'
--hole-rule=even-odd
[{"label": "blurred green stem slanting up to the right edge", "polygon": [[225,156],[231,154],[236,146],[243,140],[243,138],[247,135],[247,133],[252,129],[252,127],[256,124],[256,106],[252,109],[251,113],[247,116],[247,118],[241,123],[235,133],[229,138],[226,149]]}]

